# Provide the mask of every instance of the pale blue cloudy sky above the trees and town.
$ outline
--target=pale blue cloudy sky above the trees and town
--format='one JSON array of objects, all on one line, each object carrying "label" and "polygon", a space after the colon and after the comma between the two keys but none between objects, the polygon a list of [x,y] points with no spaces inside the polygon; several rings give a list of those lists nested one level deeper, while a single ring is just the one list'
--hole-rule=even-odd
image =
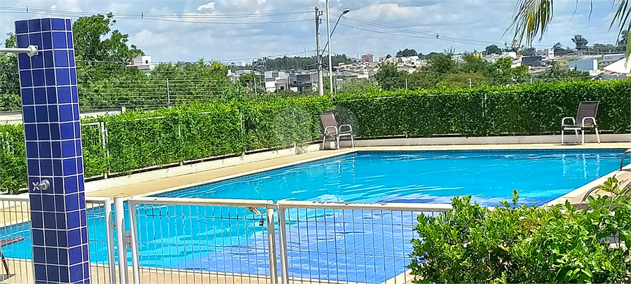
[{"label": "pale blue cloudy sky above the trees and town", "polygon": [[[456,53],[504,46],[517,0],[330,0],[331,25],[341,11],[331,39],[332,53],[395,55],[414,48],[419,53]],[[610,0],[556,0],[548,32],[535,48],[560,42],[574,47],[581,34],[594,43],[616,43],[618,27],[609,29]],[[590,5],[593,7],[591,8]],[[315,7],[325,0],[97,1],[2,0],[0,39],[13,32],[15,20],[48,16],[72,18],[112,12],[114,29],[129,34],[130,43],[154,62],[217,60],[226,63],[283,55],[311,56],[315,50]],[[26,13],[27,7],[29,13]],[[331,27],[332,28],[332,27]],[[506,32],[506,34],[504,34]],[[326,11],[320,25],[327,43]],[[436,38],[436,34],[438,38]]]}]

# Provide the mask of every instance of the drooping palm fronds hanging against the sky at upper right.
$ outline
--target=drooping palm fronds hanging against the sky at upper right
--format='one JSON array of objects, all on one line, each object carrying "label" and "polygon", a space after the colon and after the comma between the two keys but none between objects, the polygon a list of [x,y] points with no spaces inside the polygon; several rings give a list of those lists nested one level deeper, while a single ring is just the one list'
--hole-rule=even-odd
[{"label": "drooping palm fronds hanging against the sky at upper right", "polygon": [[[552,3],[552,0],[517,1],[513,22],[508,27],[508,29],[514,29],[513,45],[521,45],[524,41],[530,45],[536,36],[539,36],[540,40],[543,38],[543,34],[548,30],[550,22],[552,21]],[[613,11],[616,11],[616,13],[613,15],[609,27],[613,27],[613,25],[617,24],[620,34],[625,29],[631,30],[631,17],[629,17],[631,14],[631,5],[629,5],[629,1],[616,0],[612,1],[612,3],[611,8]],[[627,56],[631,52],[630,36],[631,33],[627,33]],[[585,40],[585,45],[582,46],[587,45],[586,41],[587,40]]]}]

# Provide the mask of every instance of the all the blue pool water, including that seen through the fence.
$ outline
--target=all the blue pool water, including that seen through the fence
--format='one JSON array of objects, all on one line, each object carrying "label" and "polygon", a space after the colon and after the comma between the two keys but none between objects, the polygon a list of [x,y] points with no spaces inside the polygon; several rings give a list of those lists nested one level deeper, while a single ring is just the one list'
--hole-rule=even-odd
[{"label": "all the blue pool water, including that seen through the fence", "polygon": [[[622,152],[360,152],[158,196],[449,203],[453,196],[471,195],[497,205],[517,189],[522,203],[542,205],[616,170]],[[266,226],[250,211],[180,205],[136,210],[142,266],[269,275]],[[107,263],[103,213],[88,210],[90,261],[102,264]],[[288,210],[290,276],[367,283],[392,278],[409,264],[418,214]],[[6,257],[32,257],[29,223],[0,228],[0,236],[26,237],[3,248]]]}]

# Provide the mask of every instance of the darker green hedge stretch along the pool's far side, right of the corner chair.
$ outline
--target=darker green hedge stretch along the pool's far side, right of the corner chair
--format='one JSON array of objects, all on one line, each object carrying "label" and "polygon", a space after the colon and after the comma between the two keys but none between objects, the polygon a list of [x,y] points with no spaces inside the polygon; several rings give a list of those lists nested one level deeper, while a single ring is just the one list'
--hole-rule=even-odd
[{"label": "darker green hedge stretch along the pool's far side, right of the corner chair", "polygon": [[344,94],[336,104],[354,114],[359,136],[429,137],[559,133],[561,119],[576,116],[578,102],[600,100],[599,129],[624,133],[629,96],[628,81],[581,81]]}]

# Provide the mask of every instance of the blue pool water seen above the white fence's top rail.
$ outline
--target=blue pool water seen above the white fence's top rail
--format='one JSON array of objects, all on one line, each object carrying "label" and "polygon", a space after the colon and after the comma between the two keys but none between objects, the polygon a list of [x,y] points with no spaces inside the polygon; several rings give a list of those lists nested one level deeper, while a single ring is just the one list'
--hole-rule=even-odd
[{"label": "blue pool water seen above the white fence's top rail", "polygon": [[449,203],[473,196],[483,205],[509,200],[543,205],[616,170],[622,149],[360,151],[162,197]]}]

